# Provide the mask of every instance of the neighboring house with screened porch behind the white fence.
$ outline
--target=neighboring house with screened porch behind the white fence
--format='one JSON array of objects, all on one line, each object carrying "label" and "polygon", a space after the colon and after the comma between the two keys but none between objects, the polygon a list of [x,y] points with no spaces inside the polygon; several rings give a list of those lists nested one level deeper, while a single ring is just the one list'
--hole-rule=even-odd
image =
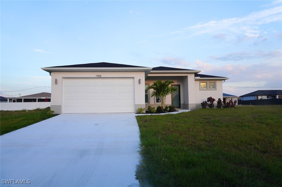
[{"label": "neighboring house with screened porch behind the white fence", "polygon": [[8,102],[51,102],[51,93],[42,92],[21,97],[8,97]]}]

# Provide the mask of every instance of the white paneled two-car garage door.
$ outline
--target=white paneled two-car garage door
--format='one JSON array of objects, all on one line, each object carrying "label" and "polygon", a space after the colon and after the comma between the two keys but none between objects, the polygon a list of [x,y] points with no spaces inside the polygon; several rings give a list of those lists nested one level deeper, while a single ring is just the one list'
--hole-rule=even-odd
[{"label": "white paneled two-car garage door", "polygon": [[134,112],[133,78],[64,78],[63,113]]}]

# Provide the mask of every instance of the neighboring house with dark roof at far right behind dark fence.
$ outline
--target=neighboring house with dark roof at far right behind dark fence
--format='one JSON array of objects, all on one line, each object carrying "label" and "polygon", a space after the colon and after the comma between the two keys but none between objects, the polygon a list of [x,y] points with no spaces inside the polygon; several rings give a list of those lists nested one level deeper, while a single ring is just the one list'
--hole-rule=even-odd
[{"label": "neighboring house with dark roof at far right behind dark fence", "polygon": [[282,90],[257,90],[255,92],[241,95],[242,101],[259,100],[259,99],[281,99]]}]

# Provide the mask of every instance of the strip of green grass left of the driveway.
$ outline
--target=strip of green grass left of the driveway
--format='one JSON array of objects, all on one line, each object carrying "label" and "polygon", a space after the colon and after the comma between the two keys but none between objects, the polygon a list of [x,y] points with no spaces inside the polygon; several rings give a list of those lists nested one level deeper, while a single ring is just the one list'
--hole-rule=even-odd
[{"label": "strip of green grass left of the driveway", "polygon": [[50,107],[36,110],[0,111],[0,135],[35,124],[55,115],[47,112]]}]

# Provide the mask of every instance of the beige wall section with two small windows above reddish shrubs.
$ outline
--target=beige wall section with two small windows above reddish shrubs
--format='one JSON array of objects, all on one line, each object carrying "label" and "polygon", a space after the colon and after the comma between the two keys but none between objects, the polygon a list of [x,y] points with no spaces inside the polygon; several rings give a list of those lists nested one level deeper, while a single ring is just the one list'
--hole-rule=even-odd
[{"label": "beige wall section with two small windows above reddish shrubs", "polygon": [[[214,90],[211,89],[200,89],[200,83],[215,83]],[[215,99],[215,102],[218,98],[223,101],[222,95],[222,80],[195,80],[195,100],[197,104],[201,104],[201,102],[206,101],[208,97],[212,97]],[[215,103],[216,105],[216,103]],[[201,106],[201,105],[198,105]],[[199,108],[199,107],[197,107]]]}]

